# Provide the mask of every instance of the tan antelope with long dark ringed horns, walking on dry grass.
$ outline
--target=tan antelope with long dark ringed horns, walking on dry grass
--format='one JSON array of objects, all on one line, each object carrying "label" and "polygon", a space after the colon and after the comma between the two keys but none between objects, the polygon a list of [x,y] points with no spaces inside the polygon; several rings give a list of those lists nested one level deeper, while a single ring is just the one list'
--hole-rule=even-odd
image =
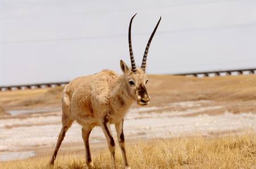
[{"label": "tan antelope with long dark ringed horns, walking on dry grass", "polygon": [[[137,14],[135,14],[137,15]],[[133,18],[135,17],[133,16]],[[106,140],[108,141],[111,154],[112,168],[115,168],[115,143],[110,129],[110,124],[115,125],[118,144],[121,148],[125,168],[130,168],[125,150],[125,137],[123,135],[123,118],[131,104],[137,102],[139,105],[150,103],[150,96],[147,94],[146,75],[147,53],[150,43],[161,18],[155,26],[150,39],[148,40],[141,68],[136,67],[131,46],[131,23],[129,24],[129,50],[131,68],[124,61],[120,60],[120,67],[123,72],[118,75],[112,70],[102,70],[100,73],[79,77],[68,83],[62,96],[62,128],[57,139],[56,147],[51,158],[53,165],[65,133],[71,127],[73,121],[82,126],[82,139],[85,145],[86,164],[93,167],[89,148],[89,136],[94,126],[101,126]]]}]

